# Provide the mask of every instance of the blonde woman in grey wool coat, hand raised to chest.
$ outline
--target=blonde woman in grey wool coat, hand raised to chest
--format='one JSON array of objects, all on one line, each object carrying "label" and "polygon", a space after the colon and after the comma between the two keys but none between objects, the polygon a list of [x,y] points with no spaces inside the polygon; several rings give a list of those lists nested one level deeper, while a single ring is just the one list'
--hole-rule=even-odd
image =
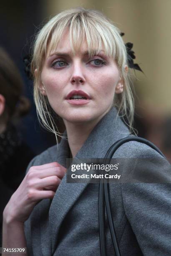
[{"label": "blonde woman in grey wool coat, hand raised to chest", "polygon": [[[30,256],[99,256],[98,184],[67,183],[66,159],[103,158],[133,122],[126,47],[102,13],[75,8],[52,18],[35,38],[34,99],[43,125],[62,140],[35,157],[4,210],[3,247],[27,247]],[[115,157],[159,154],[135,141]],[[166,184],[111,184],[111,207],[123,256],[170,255]],[[114,255],[106,227],[108,255]],[[5,254],[4,254],[5,255]]]}]

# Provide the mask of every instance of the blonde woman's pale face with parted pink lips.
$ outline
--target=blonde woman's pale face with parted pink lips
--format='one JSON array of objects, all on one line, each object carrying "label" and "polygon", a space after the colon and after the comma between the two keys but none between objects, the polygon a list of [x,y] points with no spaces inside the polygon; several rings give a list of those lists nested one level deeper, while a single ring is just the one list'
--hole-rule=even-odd
[{"label": "blonde woman's pale face with parted pink lips", "polygon": [[45,58],[40,91],[65,124],[100,120],[110,110],[114,94],[123,91],[116,62],[103,51],[90,59],[87,51],[84,41],[73,56],[66,32],[55,53]]}]

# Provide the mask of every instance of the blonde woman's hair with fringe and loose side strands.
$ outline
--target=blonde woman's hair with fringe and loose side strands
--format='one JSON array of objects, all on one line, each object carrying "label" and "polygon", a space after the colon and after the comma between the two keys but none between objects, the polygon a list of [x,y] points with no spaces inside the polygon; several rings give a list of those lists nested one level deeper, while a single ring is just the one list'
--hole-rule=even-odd
[{"label": "blonde woman's hair with fringe and loose side strands", "polygon": [[[31,69],[33,77],[35,69],[38,70],[34,77],[34,100],[40,122],[42,121],[45,128],[55,133],[56,139],[60,136],[52,117],[53,110],[50,108],[48,98],[40,93],[39,84],[45,56],[55,51],[66,28],[69,31],[73,54],[86,39],[89,56],[98,54],[103,49],[107,56],[115,59],[123,79],[123,92],[115,95],[113,105],[118,109],[118,113],[127,119],[128,126],[132,128],[134,103],[129,76],[125,69],[128,65],[126,46],[119,29],[111,20],[97,10],[84,8],[73,8],[59,13],[43,26],[35,38]],[[97,49],[96,52],[94,49]]]}]

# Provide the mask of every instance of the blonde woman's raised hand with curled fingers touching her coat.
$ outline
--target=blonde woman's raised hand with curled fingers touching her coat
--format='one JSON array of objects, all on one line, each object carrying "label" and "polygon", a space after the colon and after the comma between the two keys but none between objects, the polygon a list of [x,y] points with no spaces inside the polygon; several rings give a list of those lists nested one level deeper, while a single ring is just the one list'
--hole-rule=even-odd
[{"label": "blonde woman's raised hand with curled fingers touching her coat", "polygon": [[6,223],[24,223],[41,199],[54,197],[65,173],[66,168],[57,162],[30,167],[5,207],[3,217]]}]

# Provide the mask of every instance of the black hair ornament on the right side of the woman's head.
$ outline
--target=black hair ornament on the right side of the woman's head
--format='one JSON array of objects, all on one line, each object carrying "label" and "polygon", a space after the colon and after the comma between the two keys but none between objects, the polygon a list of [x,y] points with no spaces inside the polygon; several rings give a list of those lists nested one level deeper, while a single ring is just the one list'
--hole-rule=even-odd
[{"label": "black hair ornament on the right side of the woman's head", "polygon": [[[125,33],[120,33],[120,35],[124,36]],[[125,46],[127,51],[128,67],[130,67],[131,69],[136,69],[143,72],[137,63],[133,63],[133,59],[136,59],[135,52],[131,50],[133,48],[133,44],[128,42],[125,44]]]}]

